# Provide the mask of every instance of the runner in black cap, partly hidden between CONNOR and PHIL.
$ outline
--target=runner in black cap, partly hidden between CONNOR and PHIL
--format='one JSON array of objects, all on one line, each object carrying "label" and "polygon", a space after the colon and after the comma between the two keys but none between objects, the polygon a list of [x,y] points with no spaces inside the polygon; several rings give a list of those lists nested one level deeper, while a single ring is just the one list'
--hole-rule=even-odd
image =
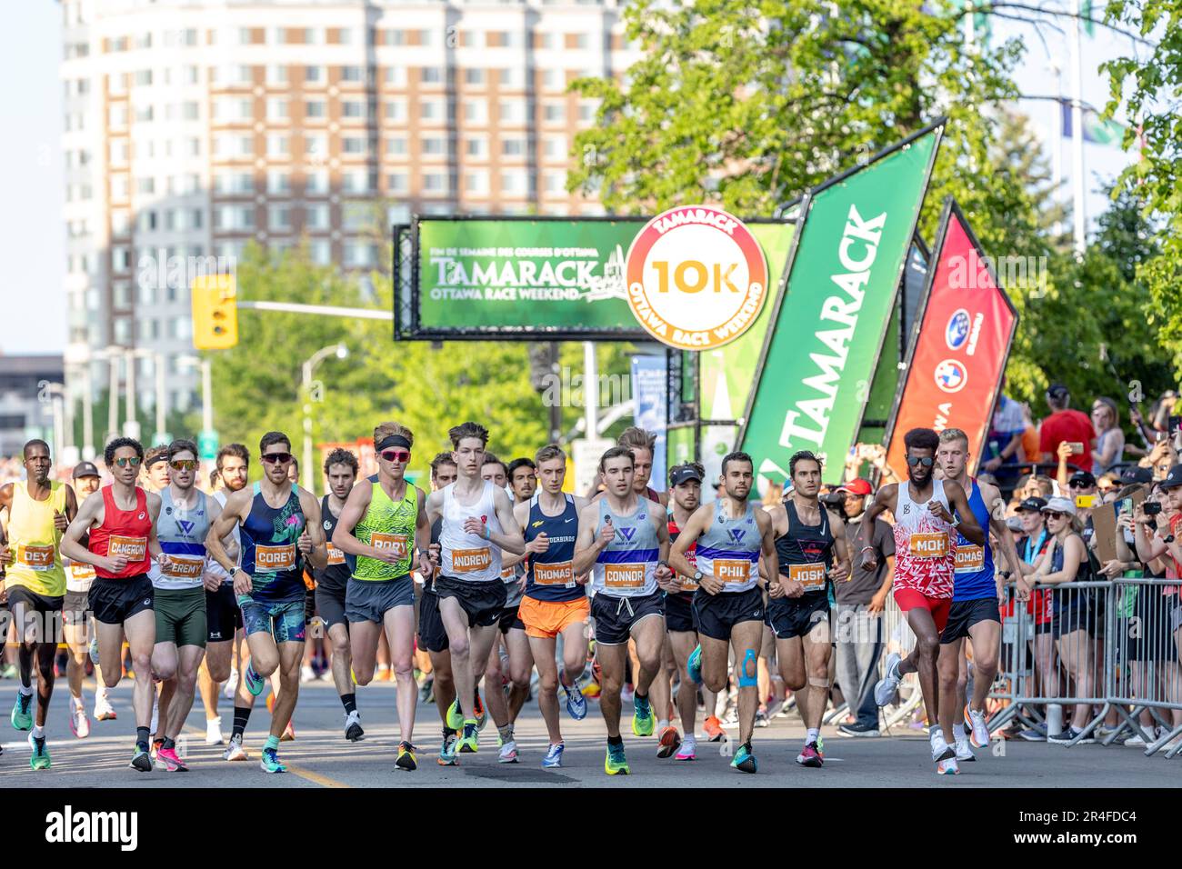
[{"label": "runner in black cap, partly hidden between CONNOR and PHIL", "polygon": [[[681,528],[701,505],[702,478],[704,476],[706,471],[697,462],[678,465],[669,472],[670,501],[667,520],[669,541],[673,545],[676,545]],[[694,564],[696,556],[697,540],[691,540],[686,549],[684,558],[695,571],[697,570]],[[673,565],[670,564],[670,566]],[[697,591],[697,583],[694,581],[693,573],[677,573],[677,584],[678,591],[669,591],[664,596],[665,642],[669,644],[676,673],[687,674],[687,677],[682,677],[681,688],[677,690],[677,712],[681,716],[681,726],[684,729],[686,738],[682,739],[681,734],[677,733],[677,728],[671,725],[663,729],[658,727],[657,742],[660,747],[657,748],[657,757],[667,758],[676,752],[675,757],[677,760],[694,760],[697,757],[697,738],[694,735],[697,719],[697,686],[689,682],[686,666],[689,662],[689,656],[697,647],[697,625],[694,622],[693,614],[694,592]],[[657,681],[662,686],[662,694],[665,693],[665,680],[670,679],[671,675],[668,673],[668,669],[662,670],[657,675]],[[702,727],[710,741],[716,742],[722,739],[723,734],[722,724],[714,714],[717,695],[704,685],[701,686],[701,690],[707,713]],[[654,693],[656,693],[656,689],[654,689]],[[673,687],[670,685],[669,694],[671,695],[671,693]]]}]

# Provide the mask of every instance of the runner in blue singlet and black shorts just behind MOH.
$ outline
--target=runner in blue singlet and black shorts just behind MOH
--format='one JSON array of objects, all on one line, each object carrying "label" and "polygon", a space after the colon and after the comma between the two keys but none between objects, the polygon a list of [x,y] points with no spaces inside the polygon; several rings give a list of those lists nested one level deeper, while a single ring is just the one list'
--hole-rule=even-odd
[{"label": "runner in blue singlet and black shorts just behind MOH", "polygon": [[[1001,552],[1009,568],[1005,576],[1020,579],[1018,599],[1025,601],[1030,595],[1030,586],[1021,579],[1018,547],[1002,518],[1006,514],[1006,502],[996,486],[968,475],[969,458],[967,434],[959,428],[946,428],[940,433],[936,459],[944,472],[944,484],[955,482],[968,493],[968,505],[976,524],[982,528],[992,528],[993,536],[1000,540]],[[952,725],[956,760],[976,760],[973,748],[983,748],[989,744],[985,699],[998,675],[998,651],[1001,648],[1001,610],[998,608],[998,581],[988,536],[983,545],[974,545],[957,533],[955,564],[953,605],[948,611],[948,623],[940,634],[940,725]],[[973,644],[973,696],[968,699],[965,637]],[[966,701],[970,722],[967,734]]]}]

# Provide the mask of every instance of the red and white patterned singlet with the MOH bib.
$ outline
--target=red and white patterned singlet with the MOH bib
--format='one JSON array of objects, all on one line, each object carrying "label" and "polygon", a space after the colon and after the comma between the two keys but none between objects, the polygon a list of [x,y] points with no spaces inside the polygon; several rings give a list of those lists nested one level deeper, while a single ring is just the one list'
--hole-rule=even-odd
[{"label": "red and white patterned singlet with the MOH bib", "polygon": [[[931,500],[940,501],[952,514],[943,480],[931,481]],[[956,566],[956,530],[928,510],[930,501],[916,502],[911,484],[898,484],[895,510],[895,590],[911,589],[924,597],[942,599],[953,596]]]}]

